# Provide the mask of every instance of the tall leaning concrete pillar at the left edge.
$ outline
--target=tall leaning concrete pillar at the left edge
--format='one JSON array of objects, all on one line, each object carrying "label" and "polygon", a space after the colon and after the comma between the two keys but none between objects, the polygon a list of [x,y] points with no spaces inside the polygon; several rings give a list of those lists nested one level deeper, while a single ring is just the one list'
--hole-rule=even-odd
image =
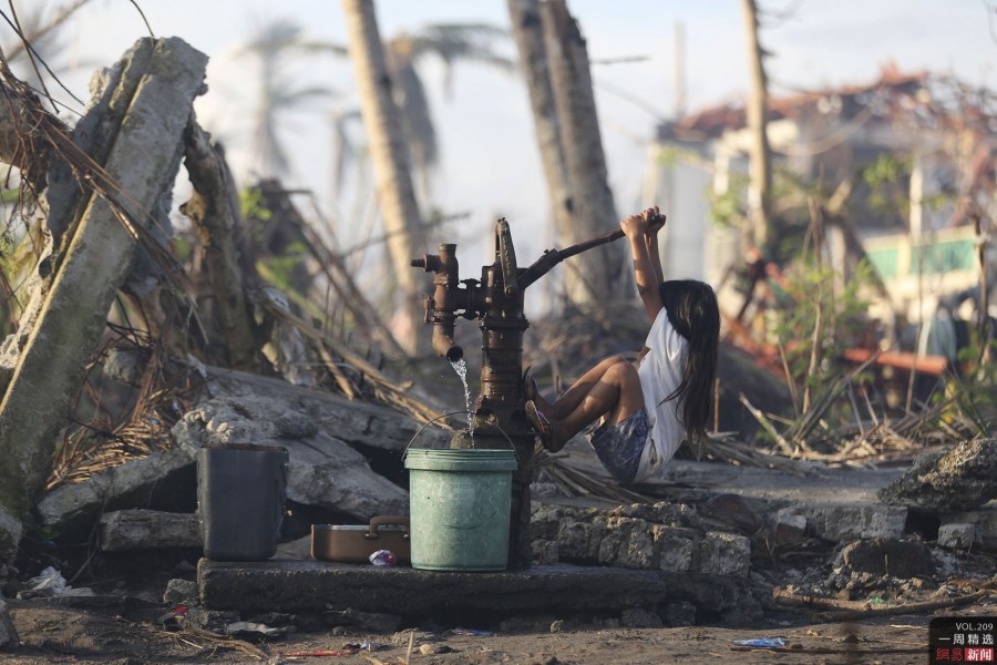
[{"label": "tall leaning concrete pillar at the left edge", "polygon": [[84,166],[114,202],[90,191],[59,257],[38,318],[23,335],[13,376],[0,402],[0,561],[17,546],[9,522],[31,508],[48,475],[59,431],[107,311],[132,268],[136,235],[172,190],[183,132],[204,89],[207,57],[176,38],[142,39],[119,63],[109,108],[122,112],[109,134],[103,164]]}]

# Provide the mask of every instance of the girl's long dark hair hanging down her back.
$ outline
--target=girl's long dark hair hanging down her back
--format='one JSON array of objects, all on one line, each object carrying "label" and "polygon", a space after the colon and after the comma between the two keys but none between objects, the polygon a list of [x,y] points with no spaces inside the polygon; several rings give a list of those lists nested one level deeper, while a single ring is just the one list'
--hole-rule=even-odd
[{"label": "girl's long dark hair hanging down her back", "polygon": [[679,419],[692,439],[706,436],[717,376],[720,308],[709,284],[669,279],[658,287],[668,321],[688,341],[682,380],[667,400],[678,400]]}]

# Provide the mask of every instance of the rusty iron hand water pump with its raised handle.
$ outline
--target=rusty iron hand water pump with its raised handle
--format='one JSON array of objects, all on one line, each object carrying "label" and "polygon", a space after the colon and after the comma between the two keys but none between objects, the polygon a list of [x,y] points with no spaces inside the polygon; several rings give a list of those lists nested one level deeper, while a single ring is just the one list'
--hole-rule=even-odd
[{"label": "rusty iron hand water pump with its raised handle", "polygon": [[513,475],[510,515],[508,564],[530,566],[530,484],[533,482],[536,436],[525,411],[523,382],[523,334],[530,327],[523,311],[526,287],[563,259],[623,237],[615,231],[586,243],[548,249],[528,268],[516,265],[508,222],[495,226],[495,263],[483,266],[481,279],[459,279],[456,245],[441,244],[440,254],[412,260],[413,267],[434,273],[434,290],[425,299],[425,323],[433,326],[433,350],[456,362],[464,356],[453,340],[458,316],[479,319],[482,336],[481,391],[471,417],[471,433],[458,432],[451,448],[508,448],[516,451],[518,469]]}]

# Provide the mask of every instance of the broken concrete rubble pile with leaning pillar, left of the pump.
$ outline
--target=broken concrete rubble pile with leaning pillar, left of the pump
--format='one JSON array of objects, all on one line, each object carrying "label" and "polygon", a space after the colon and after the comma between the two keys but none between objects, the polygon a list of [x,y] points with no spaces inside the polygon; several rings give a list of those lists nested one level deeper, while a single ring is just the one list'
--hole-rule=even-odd
[{"label": "broken concrete rubble pile with leaning pillar, left of the pump", "polygon": [[[48,139],[72,147],[51,158],[39,185],[49,244],[27,287],[18,331],[0,347],[0,473],[7,479],[0,483],[0,566],[13,562],[28,522],[75,538],[100,519],[107,550],[196,545],[192,478],[196,450],[208,443],[286,448],[289,501],[339,519],[363,522],[407,510],[405,492],[372,471],[360,451],[398,459],[418,422],[378,405],[196,359],[192,367],[209,388],[173,428],[172,444],[153,444],[146,457],[43,490],[120,289],[155,299],[166,280],[148,243],[165,244],[172,234],[168,214],[185,146],[191,170],[191,145],[207,143],[193,114],[194,99],[206,90],[206,64],[179,39],[142,39],[95,76],[93,101],[72,131],[40,106],[13,123],[18,137],[54,127]],[[79,171],[97,186],[79,185]],[[114,349],[103,380],[133,382],[143,362],[147,358]],[[428,431],[428,444],[439,444],[439,436]],[[188,498],[168,500],[171,493]]]}]

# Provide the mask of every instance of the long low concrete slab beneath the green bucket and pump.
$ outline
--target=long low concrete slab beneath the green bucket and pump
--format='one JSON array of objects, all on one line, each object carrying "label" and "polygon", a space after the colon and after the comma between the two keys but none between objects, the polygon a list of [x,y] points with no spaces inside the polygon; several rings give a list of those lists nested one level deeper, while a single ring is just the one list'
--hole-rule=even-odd
[{"label": "long low concrete slab beneath the green bucket and pump", "polygon": [[271,560],[197,566],[202,604],[241,614],[342,611],[436,621],[518,614],[620,612],[690,603],[723,614],[744,600],[747,580],[702,573],[538,565],[523,571],[440,572],[408,566]]}]

